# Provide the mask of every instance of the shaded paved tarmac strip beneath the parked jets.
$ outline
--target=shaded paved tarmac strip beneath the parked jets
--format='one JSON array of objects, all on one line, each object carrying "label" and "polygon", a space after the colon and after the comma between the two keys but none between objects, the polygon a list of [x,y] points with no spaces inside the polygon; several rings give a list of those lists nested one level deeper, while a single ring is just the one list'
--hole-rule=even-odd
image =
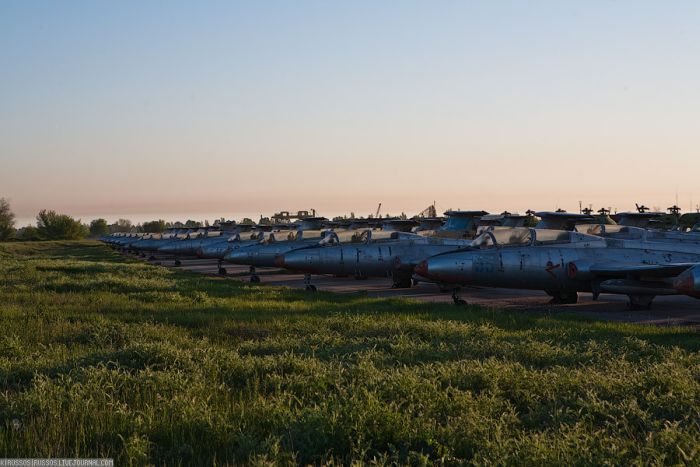
[{"label": "shaded paved tarmac strip beneath the parked jets", "polygon": [[[165,267],[176,267],[172,258],[156,257],[153,261]],[[212,259],[182,259],[179,269],[218,276],[218,265]],[[249,281],[248,266],[224,263],[227,277]],[[304,275],[282,269],[257,268],[260,283],[279,287],[305,288]],[[401,297],[436,303],[453,303],[450,292],[441,292],[437,285],[419,282],[410,289],[394,289],[388,278],[356,280],[353,277],[311,276],[318,290],[335,293],[365,293],[369,297]],[[313,293],[313,292],[309,292]],[[599,320],[643,323],[657,326],[692,326],[700,329],[700,300],[672,295],[657,296],[650,310],[630,311],[624,295],[601,294],[593,300],[590,293],[579,293],[576,304],[550,304],[550,297],[542,291],[497,289],[486,287],[462,288],[459,297],[468,304],[490,308],[573,313]]]}]

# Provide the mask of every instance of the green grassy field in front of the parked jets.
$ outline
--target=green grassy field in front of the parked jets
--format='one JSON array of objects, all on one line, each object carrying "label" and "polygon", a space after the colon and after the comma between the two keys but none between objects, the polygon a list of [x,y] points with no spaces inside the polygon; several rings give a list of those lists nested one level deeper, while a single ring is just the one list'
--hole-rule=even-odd
[{"label": "green grassy field in front of the parked jets", "polygon": [[251,286],[0,245],[0,457],[699,464],[690,329]]}]

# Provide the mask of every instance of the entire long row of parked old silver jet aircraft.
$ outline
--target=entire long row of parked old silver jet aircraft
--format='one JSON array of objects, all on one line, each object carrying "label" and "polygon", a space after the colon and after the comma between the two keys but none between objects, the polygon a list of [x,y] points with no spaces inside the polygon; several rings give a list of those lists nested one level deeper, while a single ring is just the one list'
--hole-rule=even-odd
[{"label": "entire long row of parked old silver jet aircraft", "polygon": [[[678,212],[676,211],[676,214]],[[113,234],[102,241],[155,259],[172,255],[212,258],[256,268],[356,279],[386,277],[397,288],[418,282],[452,291],[464,286],[544,290],[555,303],[576,303],[581,292],[623,294],[634,310],[658,295],[700,298],[700,224],[687,231],[657,228],[660,212],[610,216],[606,210],[508,212],[454,211],[417,219],[307,216],[294,223],[169,229],[161,234]],[[614,218],[614,219],[613,219]]]}]

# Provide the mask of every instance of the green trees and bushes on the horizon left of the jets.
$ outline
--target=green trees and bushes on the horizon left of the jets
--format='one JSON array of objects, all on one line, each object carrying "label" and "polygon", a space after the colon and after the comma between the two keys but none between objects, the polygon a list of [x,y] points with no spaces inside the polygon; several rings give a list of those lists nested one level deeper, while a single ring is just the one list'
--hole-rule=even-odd
[{"label": "green trees and bushes on the horizon left of the jets", "polygon": [[[199,227],[201,223],[188,220],[187,222],[166,222],[163,219],[133,224],[128,219],[119,219],[109,224],[105,219],[94,219],[84,224],[80,219],[74,219],[66,214],[43,209],[36,216],[36,225],[15,227],[15,214],[10,203],[0,198],[0,241],[20,240],[80,240],[86,237],[97,238],[118,232],[152,232],[160,233],[172,227]],[[205,222],[205,225],[209,225]]]}]

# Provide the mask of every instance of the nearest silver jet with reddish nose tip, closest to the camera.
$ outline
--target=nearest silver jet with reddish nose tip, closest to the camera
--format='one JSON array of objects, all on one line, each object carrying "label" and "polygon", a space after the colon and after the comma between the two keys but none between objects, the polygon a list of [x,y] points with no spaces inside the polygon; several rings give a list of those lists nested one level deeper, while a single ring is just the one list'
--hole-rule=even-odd
[{"label": "nearest silver jet with reddish nose tip, closest to the camera", "polygon": [[[655,296],[700,298],[700,252],[635,248],[620,239],[579,232],[513,229],[485,232],[462,251],[421,262],[416,274],[455,287],[544,290],[558,303],[578,292],[624,294],[631,309],[648,309]],[[462,300],[453,293],[456,303]]]}]

